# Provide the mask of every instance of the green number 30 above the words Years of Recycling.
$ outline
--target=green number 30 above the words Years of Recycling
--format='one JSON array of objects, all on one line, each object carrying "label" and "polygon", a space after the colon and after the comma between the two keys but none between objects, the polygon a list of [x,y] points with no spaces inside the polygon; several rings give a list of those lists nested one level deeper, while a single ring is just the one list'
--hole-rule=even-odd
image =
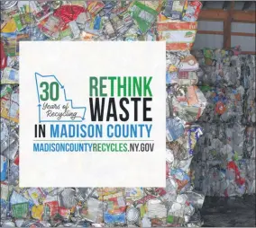
[{"label": "green number 30 above the words Years of Recycling", "polygon": [[[49,83],[42,82],[40,83],[40,88],[42,88],[43,94],[40,95],[41,101],[58,101],[59,100],[59,83]],[[50,89],[50,92],[49,92]],[[50,93],[50,94],[49,94]],[[50,95],[50,96],[49,96]]]}]

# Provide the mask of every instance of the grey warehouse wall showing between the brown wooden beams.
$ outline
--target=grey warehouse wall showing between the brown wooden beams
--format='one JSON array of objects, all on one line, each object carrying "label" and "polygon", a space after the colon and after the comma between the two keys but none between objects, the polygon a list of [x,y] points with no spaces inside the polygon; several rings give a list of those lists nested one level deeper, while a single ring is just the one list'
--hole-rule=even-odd
[{"label": "grey warehouse wall showing between the brown wooden beams", "polygon": [[[198,22],[198,31],[223,31],[223,22]],[[232,23],[232,32],[255,33],[255,23]],[[232,36],[232,47],[241,45],[242,51],[255,51],[255,37]],[[200,48],[223,48],[223,35],[197,34],[193,49]]]}]

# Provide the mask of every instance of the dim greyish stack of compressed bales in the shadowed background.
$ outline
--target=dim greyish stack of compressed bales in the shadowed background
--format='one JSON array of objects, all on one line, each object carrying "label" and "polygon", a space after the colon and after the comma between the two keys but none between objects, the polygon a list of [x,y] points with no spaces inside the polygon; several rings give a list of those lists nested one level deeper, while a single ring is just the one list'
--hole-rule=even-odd
[{"label": "dim greyish stack of compressed bales in the shadowed background", "polygon": [[192,169],[195,189],[206,196],[255,194],[255,56],[231,50],[194,52],[207,106]]}]

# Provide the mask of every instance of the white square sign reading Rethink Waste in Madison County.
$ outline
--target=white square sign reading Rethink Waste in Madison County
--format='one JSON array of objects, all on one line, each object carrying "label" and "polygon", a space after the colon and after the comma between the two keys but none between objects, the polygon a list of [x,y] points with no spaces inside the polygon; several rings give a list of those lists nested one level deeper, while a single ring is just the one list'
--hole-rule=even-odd
[{"label": "white square sign reading Rethink Waste in Madison County", "polygon": [[165,42],[20,45],[20,187],[165,187]]}]

